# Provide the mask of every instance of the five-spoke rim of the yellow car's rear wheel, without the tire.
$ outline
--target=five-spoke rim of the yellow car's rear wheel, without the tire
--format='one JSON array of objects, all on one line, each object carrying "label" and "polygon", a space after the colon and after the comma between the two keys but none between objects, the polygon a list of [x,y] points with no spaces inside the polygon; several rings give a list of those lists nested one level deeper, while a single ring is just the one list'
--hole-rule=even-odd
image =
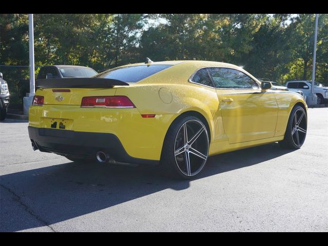
[{"label": "five-spoke rim of the yellow car's rear wheel, without the tire", "polygon": [[206,127],[195,119],[183,123],[174,144],[178,169],[187,176],[194,176],[204,167],[208,154],[209,136]]}]

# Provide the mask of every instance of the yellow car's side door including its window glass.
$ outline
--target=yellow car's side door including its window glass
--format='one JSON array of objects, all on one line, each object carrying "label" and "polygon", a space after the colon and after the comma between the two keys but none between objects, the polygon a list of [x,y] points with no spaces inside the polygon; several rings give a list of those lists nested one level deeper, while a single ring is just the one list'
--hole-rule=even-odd
[{"label": "yellow car's side door including its window glass", "polygon": [[261,91],[249,75],[232,68],[208,68],[229,144],[273,137],[278,106],[273,91]]}]

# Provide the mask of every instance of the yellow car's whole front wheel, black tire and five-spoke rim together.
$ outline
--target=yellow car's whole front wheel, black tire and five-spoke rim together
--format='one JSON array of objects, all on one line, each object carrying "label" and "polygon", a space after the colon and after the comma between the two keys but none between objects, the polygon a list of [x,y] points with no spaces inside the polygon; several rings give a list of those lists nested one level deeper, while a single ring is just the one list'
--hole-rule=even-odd
[{"label": "yellow car's whole front wheel, black tire and five-spoke rim together", "polygon": [[286,132],[280,146],[285,149],[299,149],[304,144],[308,118],[305,110],[296,105],[289,116]]}]

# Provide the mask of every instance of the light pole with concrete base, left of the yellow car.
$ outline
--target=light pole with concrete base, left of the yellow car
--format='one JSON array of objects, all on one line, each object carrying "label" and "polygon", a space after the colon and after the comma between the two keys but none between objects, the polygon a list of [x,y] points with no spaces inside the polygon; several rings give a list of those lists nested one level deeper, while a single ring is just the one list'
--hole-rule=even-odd
[{"label": "light pole with concrete base, left of the yellow car", "polygon": [[32,99],[35,94],[34,78],[34,34],[33,34],[33,14],[29,14],[29,53],[30,53],[30,93],[26,93],[23,98],[24,114],[29,114],[29,107],[32,105]]}]

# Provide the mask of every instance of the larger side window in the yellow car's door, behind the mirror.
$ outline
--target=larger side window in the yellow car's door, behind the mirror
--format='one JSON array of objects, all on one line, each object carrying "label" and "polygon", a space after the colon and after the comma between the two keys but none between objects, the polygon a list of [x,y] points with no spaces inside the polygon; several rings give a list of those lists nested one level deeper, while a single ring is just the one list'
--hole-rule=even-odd
[{"label": "larger side window in the yellow car's door, behind the mirror", "polygon": [[231,68],[208,68],[216,88],[222,89],[259,89],[250,76]]}]

